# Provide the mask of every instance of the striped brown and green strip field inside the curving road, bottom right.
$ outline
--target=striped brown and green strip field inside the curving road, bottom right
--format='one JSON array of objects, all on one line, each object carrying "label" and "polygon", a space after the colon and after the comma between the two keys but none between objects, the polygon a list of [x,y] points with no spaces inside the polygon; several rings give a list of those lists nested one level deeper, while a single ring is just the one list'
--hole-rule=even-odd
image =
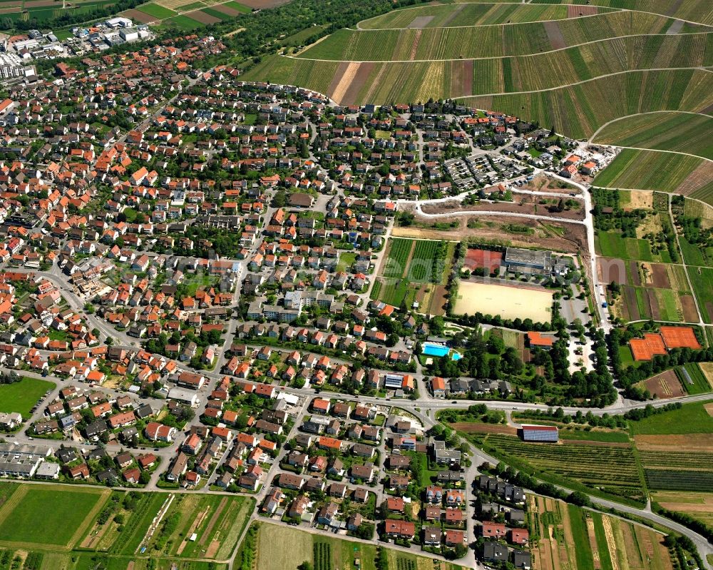
[{"label": "striped brown and green strip field inside the curving road, bottom right", "polygon": [[599,512],[528,495],[533,567],[538,569],[669,569],[663,536]]}]

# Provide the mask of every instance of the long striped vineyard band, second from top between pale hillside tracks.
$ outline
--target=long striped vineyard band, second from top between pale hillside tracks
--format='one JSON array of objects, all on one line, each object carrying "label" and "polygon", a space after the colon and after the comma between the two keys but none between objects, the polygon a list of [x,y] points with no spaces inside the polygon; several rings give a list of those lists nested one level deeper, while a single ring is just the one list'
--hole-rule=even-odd
[{"label": "long striped vineyard band, second from top between pale hillside tracks", "polygon": [[[669,25],[668,20],[661,16],[612,12],[555,22],[466,26],[461,22],[462,12],[451,8],[451,13],[458,16],[458,25],[455,27],[410,27],[401,30],[342,29],[302,51],[299,57],[339,61],[418,61],[532,56],[579,44],[613,41],[621,36],[632,34],[657,34]],[[701,46],[697,46],[697,42],[703,41],[705,44],[707,42],[705,35],[700,34],[699,38],[693,35],[650,36],[642,39],[641,45],[646,46],[646,41],[662,41],[662,45],[670,45],[670,41],[667,40],[673,40],[674,44],[679,41],[692,42],[688,45],[692,46],[700,56]],[[595,49],[601,47],[596,46]],[[565,54],[569,54],[569,51],[565,51]],[[577,62],[573,61],[573,63]],[[591,65],[593,62],[589,63]]]}]

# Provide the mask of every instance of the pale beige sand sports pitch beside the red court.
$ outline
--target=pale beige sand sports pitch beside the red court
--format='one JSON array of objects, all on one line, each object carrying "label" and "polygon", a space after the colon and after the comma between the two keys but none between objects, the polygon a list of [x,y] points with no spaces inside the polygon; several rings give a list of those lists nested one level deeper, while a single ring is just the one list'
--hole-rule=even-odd
[{"label": "pale beige sand sports pitch beside the red court", "polygon": [[505,319],[552,320],[553,293],[543,287],[495,285],[493,283],[458,282],[458,296],[453,307],[456,315],[501,315]]}]

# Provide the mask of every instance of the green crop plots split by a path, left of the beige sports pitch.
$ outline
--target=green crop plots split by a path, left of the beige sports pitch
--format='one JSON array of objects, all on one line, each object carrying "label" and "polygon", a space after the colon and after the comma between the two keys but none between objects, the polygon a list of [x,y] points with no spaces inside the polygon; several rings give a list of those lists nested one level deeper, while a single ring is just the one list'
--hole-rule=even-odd
[{"label": "green crop plots split by a path, left of the beige sports pitch", "polygon": [[419,302],[424,312],[442,315],[455,248],[455,243],[439,240],[390,239],[371,298],[396,307]]}]

